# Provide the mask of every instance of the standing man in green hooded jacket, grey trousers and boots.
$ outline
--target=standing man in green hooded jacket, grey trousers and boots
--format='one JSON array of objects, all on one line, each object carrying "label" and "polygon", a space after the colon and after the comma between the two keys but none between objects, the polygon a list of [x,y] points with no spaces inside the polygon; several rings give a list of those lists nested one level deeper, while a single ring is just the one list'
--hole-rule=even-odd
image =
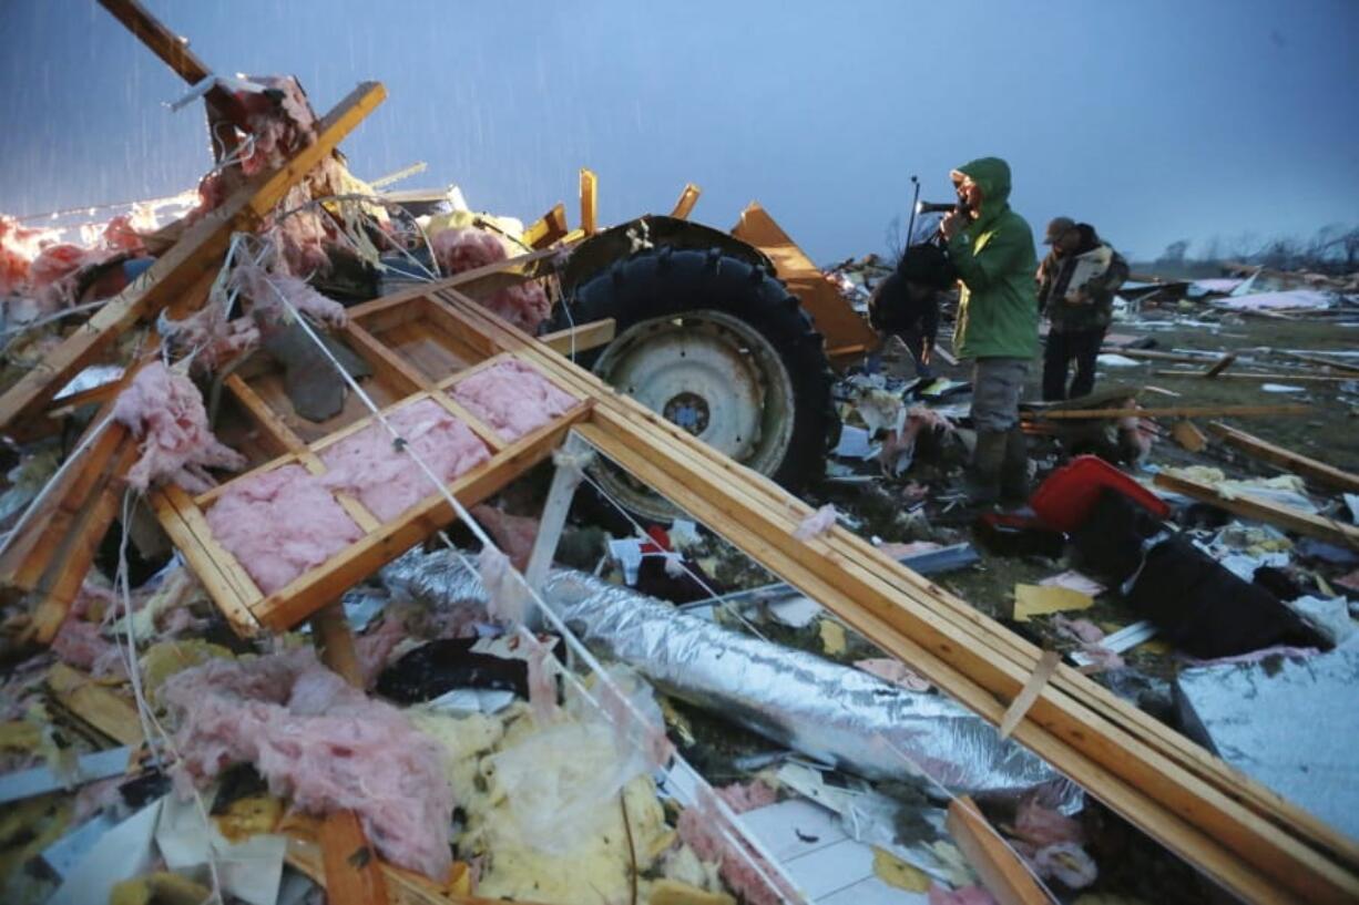
[{"label": "standing man in green hooded jacket, grey trousers and boots", "polygon": [[977,447],[969,489],[983,503],[1029,495],[1029,454],[1019,397],[1038,355],[1038,261],[1033,232],[1010,209],[1010,164],[981,158],[950,177],[964,202],[939,226],[962,292],[953,347],[973,360],[972,421]]}]

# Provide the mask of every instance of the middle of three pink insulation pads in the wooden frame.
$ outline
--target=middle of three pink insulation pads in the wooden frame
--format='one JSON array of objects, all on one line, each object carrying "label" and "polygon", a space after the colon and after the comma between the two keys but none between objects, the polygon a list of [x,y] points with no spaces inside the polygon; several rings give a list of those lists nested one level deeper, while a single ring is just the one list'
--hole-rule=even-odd
[{"label": "middle of three pink insulation pads in the wooden frame", "polygon": [[434,400],[421,400],[386,419],[406,442],[406,451],[398,451],[387,428],[374,423],[321,452],[323,485],[355,495],[383,522],[438,493],[412,454],[444,484],[491,458],[487,444]]}]

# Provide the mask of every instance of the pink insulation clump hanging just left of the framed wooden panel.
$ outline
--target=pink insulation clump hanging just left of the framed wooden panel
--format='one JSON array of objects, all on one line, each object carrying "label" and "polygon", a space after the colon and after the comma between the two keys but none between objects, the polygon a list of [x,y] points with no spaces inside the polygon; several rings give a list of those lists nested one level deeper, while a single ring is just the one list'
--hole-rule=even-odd
[{"label": "pink insulation clump hanging just left of the framed wooden panel", "polygon": [[169,480],[201,493],[216,485],[205,469],[239,470],[246,465],[245,457],[212,435],[193,380],[163,361],[137,372],[118,394],[113,417],[141,442],[141,458],[128,472],[128,482],[139,491]]}]

